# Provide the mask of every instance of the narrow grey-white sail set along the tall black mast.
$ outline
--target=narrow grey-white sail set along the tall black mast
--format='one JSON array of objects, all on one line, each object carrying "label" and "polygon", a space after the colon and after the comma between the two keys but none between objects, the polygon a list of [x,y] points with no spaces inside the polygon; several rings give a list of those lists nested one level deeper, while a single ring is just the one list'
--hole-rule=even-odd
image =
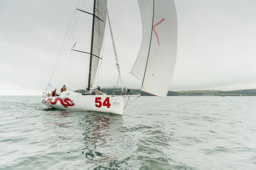
[{"label": "narrow grey-white sail set along the tall black mast", "polygon": [[[106,26],[106,9],[107,0],[95,1],[95,16],[94,17],[94,31],[93,31],[93,46],[92,46],[92,69],[91,69],[91,85],[94,82],[100,58],[100,50],[103,43],[105,26]],[[98,19],[98,18],[100,19]],[[95,57],[97,56],[97,57]]]}]

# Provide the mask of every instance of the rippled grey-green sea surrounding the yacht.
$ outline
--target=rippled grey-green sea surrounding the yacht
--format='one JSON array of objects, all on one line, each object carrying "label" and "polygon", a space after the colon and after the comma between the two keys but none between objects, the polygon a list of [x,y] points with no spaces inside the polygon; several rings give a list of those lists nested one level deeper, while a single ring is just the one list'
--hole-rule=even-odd
[{"label": "rippled grey-green sea surrounding the yacht", "polygon": [[256,169],[256,97],[139,97],[124,115],[0,97],[0,169]]}]

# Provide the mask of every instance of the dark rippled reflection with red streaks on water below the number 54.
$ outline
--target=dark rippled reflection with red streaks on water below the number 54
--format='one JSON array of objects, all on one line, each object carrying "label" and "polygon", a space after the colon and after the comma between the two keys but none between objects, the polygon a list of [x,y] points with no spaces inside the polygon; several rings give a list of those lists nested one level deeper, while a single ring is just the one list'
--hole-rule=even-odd
[{"label": "dark rippled reflection with red streaks on water below the number 54", "polygon": [[[111,162],[118,158],[118,144],[124,139],[121,116],[93,113],[84,116],[79,124],[84,131],[85,148],[82,149],[82,153],[85,154],[87,163]],[[119,142],[116,143],[117,141]]]}]

